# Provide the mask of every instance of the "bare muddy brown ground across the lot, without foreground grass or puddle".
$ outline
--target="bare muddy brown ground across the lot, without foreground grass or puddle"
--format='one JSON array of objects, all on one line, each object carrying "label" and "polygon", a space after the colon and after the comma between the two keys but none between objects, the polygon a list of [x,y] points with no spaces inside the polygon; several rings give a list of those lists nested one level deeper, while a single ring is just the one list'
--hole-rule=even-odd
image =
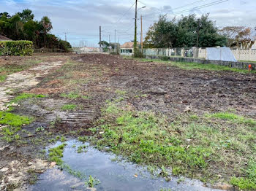
[{"label": "bare muddy brown ground across the lot, without foreground grass or puddle", "polygon": [[[23,190],[24,185],[33,183],[37,174],[50,168],[50,162],[42,152],[50,140],[56,135],[89,135],[88,128],[94,126],[107,100],[125,97],[132,108],[165,114],[170,121],[187,114],[186,110],[206,114],[229,109],[256,119],[255,74],[187,71],[167,63],[140,62],[116,55],[36,56],[43,61],[22,71],[24,80],[16,81],[15,77],[20,78],[20,75],[11,74],[6,82],[0,82],[3,90],[10,90],[9,82],[15,82],[14,90],[7,93],[10,97],[4,94],[5,103],[18,93],[48,95],[22,101],[13,111],[33,116],[35,121],[23,126],[23,141],[0,141],[2,190]],[[12,57],[5,61],[10,64],[16,59],[27,58]],[[57,64],[48,69],[47,66],[53,66],[50,63]],[[72,66],[70,71],[69,66]],[[28,79],[28,74],[33,75]],[[31,81],[33,83],[29,83]],[[65,96],[69,93],[78,96]],[[79,107],[75,111],[61,109],[70,103]],[[39,127],[44,131],[37,132]]]}]

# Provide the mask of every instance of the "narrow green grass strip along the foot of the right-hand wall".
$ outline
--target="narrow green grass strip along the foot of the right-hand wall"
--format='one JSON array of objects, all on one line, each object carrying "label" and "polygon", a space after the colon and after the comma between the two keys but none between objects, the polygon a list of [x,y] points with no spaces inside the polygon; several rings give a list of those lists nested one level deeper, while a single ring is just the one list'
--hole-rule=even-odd
[{"label": "narrow green grass strip along the foot of the right-hand wall", "polygon": [[235,68],[230,68],[227,66],[219,66],[216,64],[202,64],[202,63],[181,63],[181,62],[170,62],[170,61],[162,61],[162,60],[151,60],[151,59],[137,59],[138,61],[143,61],[143,62],[160,62],[160,63],[167,63],[167,66],[176,66],[180,69],[186,69],[186,70],[192,70],[192,69],[202,69],[202,70],[208,70],[208,71],[234,71],[238,73],[253,73],[256,74],[256,71],[248,71],[245,69],[235,69]]}]

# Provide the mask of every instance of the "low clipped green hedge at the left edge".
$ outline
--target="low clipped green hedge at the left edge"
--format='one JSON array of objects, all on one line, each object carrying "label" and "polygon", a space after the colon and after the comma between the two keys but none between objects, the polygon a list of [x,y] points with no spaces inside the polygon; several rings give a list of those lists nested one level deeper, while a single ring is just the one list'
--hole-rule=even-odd
[{"label": "low clipped green hedge at the left edge", "polygon": [[32,55],[31,41],[0,41],[0,55]]}]

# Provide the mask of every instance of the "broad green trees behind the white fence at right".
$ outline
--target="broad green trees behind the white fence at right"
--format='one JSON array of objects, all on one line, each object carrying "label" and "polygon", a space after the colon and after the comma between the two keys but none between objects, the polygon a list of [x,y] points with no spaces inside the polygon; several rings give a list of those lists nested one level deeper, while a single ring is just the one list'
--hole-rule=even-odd
[{"label": "broad green trees behind the white fence at right", "polygon": [[182,16],[179,20],[167,20],[166,15],[160,15],[148,29],[144,47],[229,47],[250,34],[250,28],[241,26],[219,30],[208,14]]}]

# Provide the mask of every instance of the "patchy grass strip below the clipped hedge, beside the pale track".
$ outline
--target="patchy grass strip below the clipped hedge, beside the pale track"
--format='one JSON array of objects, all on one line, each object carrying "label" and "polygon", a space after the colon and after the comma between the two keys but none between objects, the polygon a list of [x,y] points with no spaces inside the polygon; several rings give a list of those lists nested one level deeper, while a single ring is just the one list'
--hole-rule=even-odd
[{"label": "patchy grass strip below the clipped hedge, beside the pale track", "polygon": [[0,82],[4,82],[5,79],[7,79],[7,75],[10,75],[18,71],[29,69],[31,66],[39,62],[41,61],[34,59],[34,60],[25,61],[20,64],[8,63],[8,64],[0,65]]}]

